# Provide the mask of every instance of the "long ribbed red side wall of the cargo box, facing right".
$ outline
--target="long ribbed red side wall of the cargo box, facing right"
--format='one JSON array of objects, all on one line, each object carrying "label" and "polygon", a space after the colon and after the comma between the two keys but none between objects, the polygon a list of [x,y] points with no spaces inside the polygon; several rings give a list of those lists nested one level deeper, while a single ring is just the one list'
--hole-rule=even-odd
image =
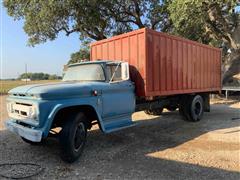
[{"label": "long ribbed red side wall of the cargo box, facing right", "polygon": [[146,96],[219,91],[221,51],[147,29]]}]

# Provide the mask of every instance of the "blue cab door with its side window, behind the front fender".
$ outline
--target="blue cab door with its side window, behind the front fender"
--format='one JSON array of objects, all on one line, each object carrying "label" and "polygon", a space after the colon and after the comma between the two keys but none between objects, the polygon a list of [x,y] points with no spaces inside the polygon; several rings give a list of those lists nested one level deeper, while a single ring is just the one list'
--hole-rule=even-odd
[{"label": "blue cab door with its side window, behind the front fender", "polygon": [[122,80],[121,67],[116,71],[116,66],[107,65],[109,83],[102,90],[102,118],[106,132],[132,125],[131,115],[135,111],[134,85],[130,80]]}]

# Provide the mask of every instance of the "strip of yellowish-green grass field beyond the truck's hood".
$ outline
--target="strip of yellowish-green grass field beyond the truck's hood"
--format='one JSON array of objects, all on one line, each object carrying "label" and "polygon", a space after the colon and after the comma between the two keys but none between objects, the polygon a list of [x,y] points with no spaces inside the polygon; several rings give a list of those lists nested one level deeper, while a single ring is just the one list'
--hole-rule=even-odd
[{"label": "strip of yellowish-green grass field beyond the truck's hood", "polygon": [[13,80],[13,81],[4,81],[0,80],[0,94],[7,94],[10,89],[13,89],[18,86],[23,85],[29,85],[29,84],[42,84],[42,83],[49,83],[49,82],[57,82],[59,80],[40,80],[40,81],[19,81],[19,80]]}]

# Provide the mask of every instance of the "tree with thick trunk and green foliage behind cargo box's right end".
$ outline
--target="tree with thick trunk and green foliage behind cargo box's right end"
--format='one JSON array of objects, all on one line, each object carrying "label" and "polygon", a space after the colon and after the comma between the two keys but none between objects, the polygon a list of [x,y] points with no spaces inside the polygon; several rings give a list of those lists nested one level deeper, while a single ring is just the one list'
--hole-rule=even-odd
[{"label": "tree with thick trunk and green foliage behind cargo box's right end", "polygon": [[223,83],[240,73],[240,13],[237,0],[175,0],[168,9],[174,33],[215,46],[224,52]]}]

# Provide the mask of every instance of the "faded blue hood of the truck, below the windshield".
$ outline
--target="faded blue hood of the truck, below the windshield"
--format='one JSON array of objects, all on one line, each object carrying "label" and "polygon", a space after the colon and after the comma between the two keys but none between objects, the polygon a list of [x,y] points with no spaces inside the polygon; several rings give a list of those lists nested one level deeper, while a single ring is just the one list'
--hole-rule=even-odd
[{"label": "faded blue hood of the truck, below the windshield", "polygon": [[101,89],[105,82],[57,82],[19,86],[9,91],[15,96],[37,96],[44,99],[67,98],[91,95],[93,90]]}]

